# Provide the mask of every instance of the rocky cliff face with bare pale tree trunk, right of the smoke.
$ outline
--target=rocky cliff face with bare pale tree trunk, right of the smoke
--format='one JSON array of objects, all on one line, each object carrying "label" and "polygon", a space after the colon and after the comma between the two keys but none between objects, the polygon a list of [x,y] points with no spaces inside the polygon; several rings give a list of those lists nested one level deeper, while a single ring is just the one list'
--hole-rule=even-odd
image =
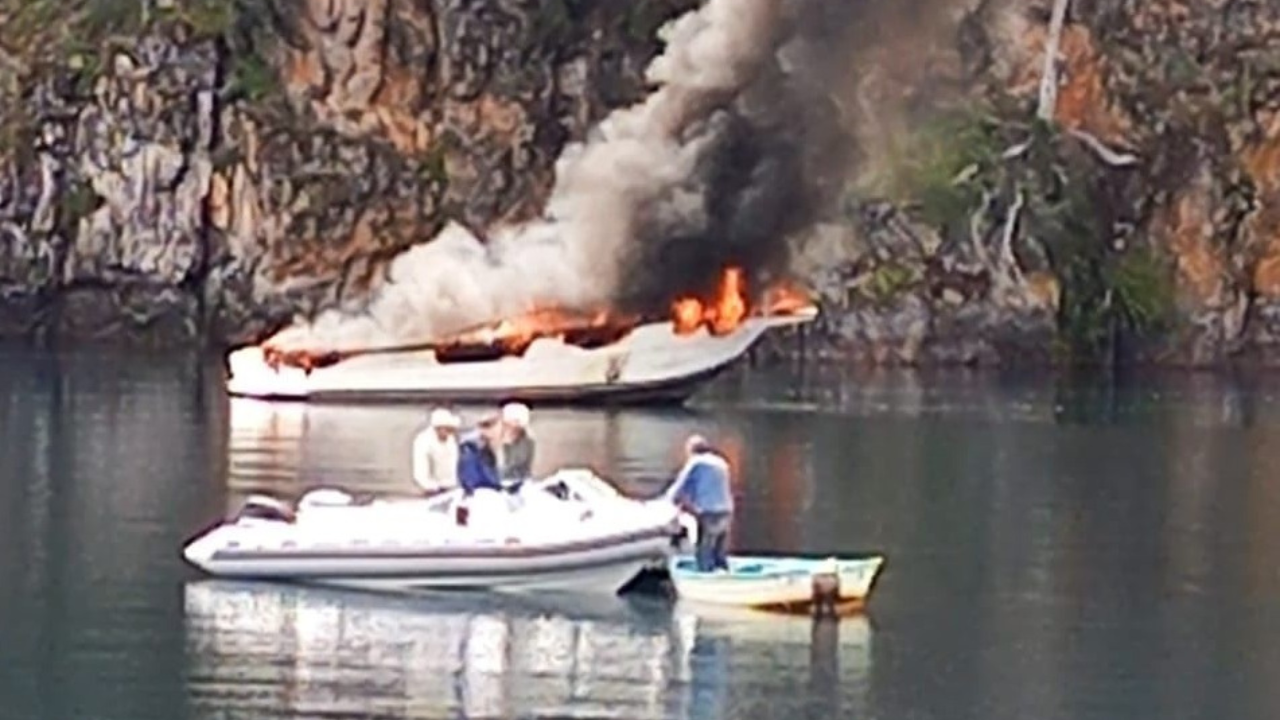
[{"label": "rocky cliff face with bare pale tree trunk, right of the smoke", "polygon": [[1053,4],[934,4],[959,56],[925,74],[961,90],[851,192],[842,240],[800,240],[824,252],[805,270],[829,310],[819,345],[872,363],[1280,363],[1280,5],[1074,0],[1055,31]]}]

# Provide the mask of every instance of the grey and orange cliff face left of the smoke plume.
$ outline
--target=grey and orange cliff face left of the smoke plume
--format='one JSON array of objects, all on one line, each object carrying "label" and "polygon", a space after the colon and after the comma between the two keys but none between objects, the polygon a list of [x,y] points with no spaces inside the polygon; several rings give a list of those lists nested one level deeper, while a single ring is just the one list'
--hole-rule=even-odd
[{"label": "grey and orange cliff face left of the smoke plume", "polygon": [[0,336],[250,341],[527,218],[690,5],[4,0]]}]

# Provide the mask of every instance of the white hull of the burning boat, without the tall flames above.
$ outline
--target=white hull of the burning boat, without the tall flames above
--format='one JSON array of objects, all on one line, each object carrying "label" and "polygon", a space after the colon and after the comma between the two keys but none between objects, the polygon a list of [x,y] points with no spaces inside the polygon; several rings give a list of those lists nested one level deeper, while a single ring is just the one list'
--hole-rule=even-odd
[{"label": "white hull of the burning boat, without the tall flames above", "polygon": [[[549,336],[520,354],[498,345],[371,350],[302,363],[262,346],[228,356],[233,396],[308,401],[678,402],[740,359],[769,329],[803,324],[817,307],[751,315],[724,334],[671,322],[626,329],[607,343]],[[302,366],[300,366],[302,365]]]}]

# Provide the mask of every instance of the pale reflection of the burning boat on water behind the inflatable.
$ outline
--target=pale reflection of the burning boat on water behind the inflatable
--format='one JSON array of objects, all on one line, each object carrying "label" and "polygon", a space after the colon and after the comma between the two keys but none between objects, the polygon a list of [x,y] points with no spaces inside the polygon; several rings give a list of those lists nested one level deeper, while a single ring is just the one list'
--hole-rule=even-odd
[{"label": "pale reflection of the burning boat on water behind the inflatable", "polygon": [[[410,448],[426,411],[411,406],[335,406],[229,400],[228,509],[246,495],[298,497],[337,486],[381,495],[416,492]],[[463,410],[474,418],[475,409]],[[646,496],[671,480],[694,432],[728,459],[742,523],[737,547],[794,551],[817,488],[815,437],[795,418],[685,409],[535,409],[535,473],[590,468],[623,492]],[[751,536],[742,528],[751,527]],[[763,533],[762,533],[763,530]]]}]

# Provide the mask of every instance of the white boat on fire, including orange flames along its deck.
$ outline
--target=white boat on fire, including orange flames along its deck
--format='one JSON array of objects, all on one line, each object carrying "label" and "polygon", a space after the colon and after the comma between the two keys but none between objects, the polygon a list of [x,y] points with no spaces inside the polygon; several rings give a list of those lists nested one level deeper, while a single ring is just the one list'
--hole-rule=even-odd
[{"label": "white boat on fire, including orange flames along its deck", "polygon": [[749,302],[741,270],[731,268],[714,299],[680,299],[664,318],[539,310],[417,346],[243,347],[228,357],[227,388],[265,400],[678,402],[769,329],[817,314],[788,287]]}]

